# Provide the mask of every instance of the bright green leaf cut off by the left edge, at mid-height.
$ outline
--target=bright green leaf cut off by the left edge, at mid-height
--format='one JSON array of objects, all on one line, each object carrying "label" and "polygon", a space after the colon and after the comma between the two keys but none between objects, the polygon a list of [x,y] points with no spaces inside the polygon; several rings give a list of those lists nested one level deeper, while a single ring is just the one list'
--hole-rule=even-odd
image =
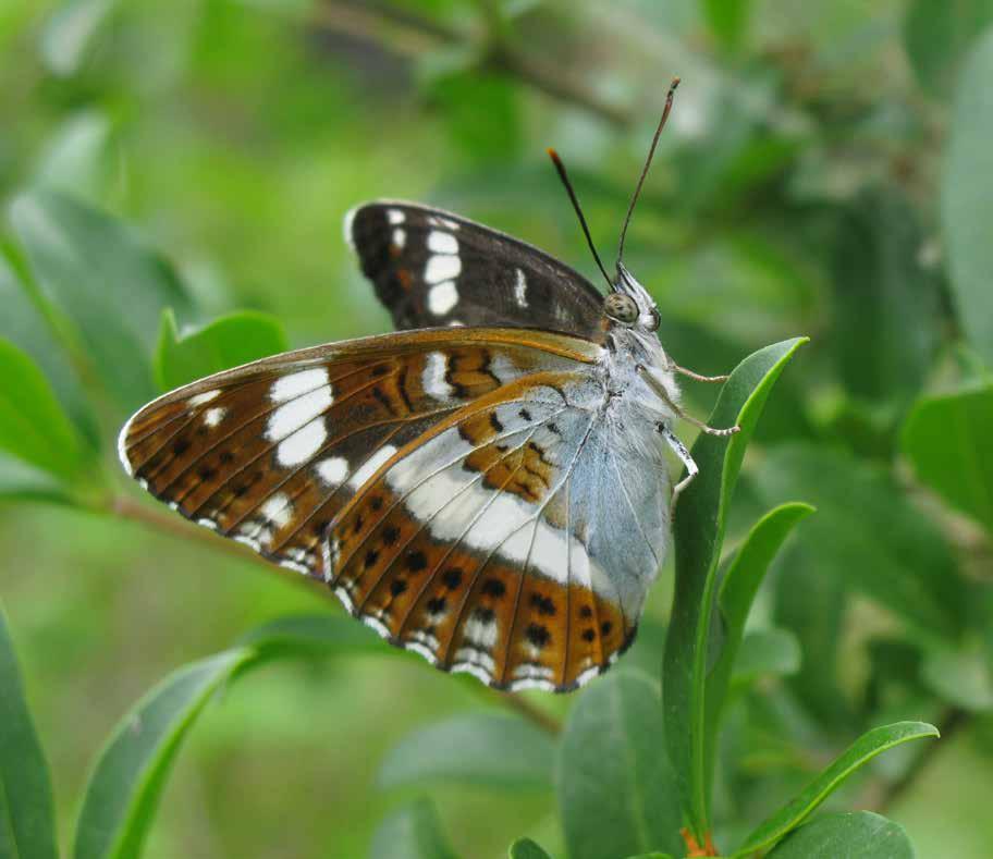
[{"label": "bright green leaf cut off by the left edge, at mid-height", "polygon": [[41,370],[0,338],[0,449],[71,481],[83,465],[83,447]]}]

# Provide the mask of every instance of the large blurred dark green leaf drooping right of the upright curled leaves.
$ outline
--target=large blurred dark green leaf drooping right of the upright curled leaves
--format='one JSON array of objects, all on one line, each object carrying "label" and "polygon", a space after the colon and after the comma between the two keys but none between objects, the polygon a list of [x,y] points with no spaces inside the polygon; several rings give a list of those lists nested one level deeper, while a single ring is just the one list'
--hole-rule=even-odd
[{"label": "large blurred dark green leaf drooping right of the upright curled leaves", "polygon": [[858,588],[932,641],[958,638],[965,582],[941,532],[886,470],[839,451],[788,444],[767,454],[755,484],[767,504],[804,493],[818,508],[804,540],[787,551],[790,572]]}]

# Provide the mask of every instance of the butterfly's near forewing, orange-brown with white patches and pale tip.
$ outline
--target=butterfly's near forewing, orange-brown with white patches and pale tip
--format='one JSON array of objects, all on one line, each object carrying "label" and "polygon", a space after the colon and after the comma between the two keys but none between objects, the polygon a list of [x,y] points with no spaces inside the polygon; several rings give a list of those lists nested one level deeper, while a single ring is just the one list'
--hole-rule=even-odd
[{"label": "butterfly's near forewing, orange-brown with white patches and pale tip", "polygon": [[218,373],[143,408],[121,433],[151,494],[267,557],[324,577],[329,523],[396,450],[573,341],[410,332],[304,349]]}]

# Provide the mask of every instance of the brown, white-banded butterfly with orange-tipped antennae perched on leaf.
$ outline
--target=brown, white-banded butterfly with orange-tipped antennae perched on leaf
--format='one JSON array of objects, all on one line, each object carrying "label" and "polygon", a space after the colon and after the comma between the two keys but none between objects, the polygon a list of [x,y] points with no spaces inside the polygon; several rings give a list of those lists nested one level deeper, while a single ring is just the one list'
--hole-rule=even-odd
[{"label": "brown, white-banded butterfly with orange-tipped antennae perched on leaf", "polygon": [[[675,83],[614,278],[549,150],[605,297],[465,218],[366,204],[345,238],[400,330],[164,394],[121,431],[124,468],[440,668],[555,691],[605,671],[634,640],[673,499],[697,474],[673,430],[692,420],[676,377],[708,377],[663,351],[655,304],[621,261]],[[687,469],[675,487],[666,449]]]}]

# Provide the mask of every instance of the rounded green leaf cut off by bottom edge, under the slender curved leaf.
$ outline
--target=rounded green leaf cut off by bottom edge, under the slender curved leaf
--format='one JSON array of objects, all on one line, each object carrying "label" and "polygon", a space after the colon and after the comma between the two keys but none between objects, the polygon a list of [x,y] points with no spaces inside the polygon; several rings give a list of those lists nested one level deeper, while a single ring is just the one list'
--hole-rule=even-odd
[{"label": "rounded green leaf cut off by bottom edge, under the slender curved leaf", "polygon": [[825,814],[793,832],[769,859],[914,859],[903,826],[871,811]]}]

